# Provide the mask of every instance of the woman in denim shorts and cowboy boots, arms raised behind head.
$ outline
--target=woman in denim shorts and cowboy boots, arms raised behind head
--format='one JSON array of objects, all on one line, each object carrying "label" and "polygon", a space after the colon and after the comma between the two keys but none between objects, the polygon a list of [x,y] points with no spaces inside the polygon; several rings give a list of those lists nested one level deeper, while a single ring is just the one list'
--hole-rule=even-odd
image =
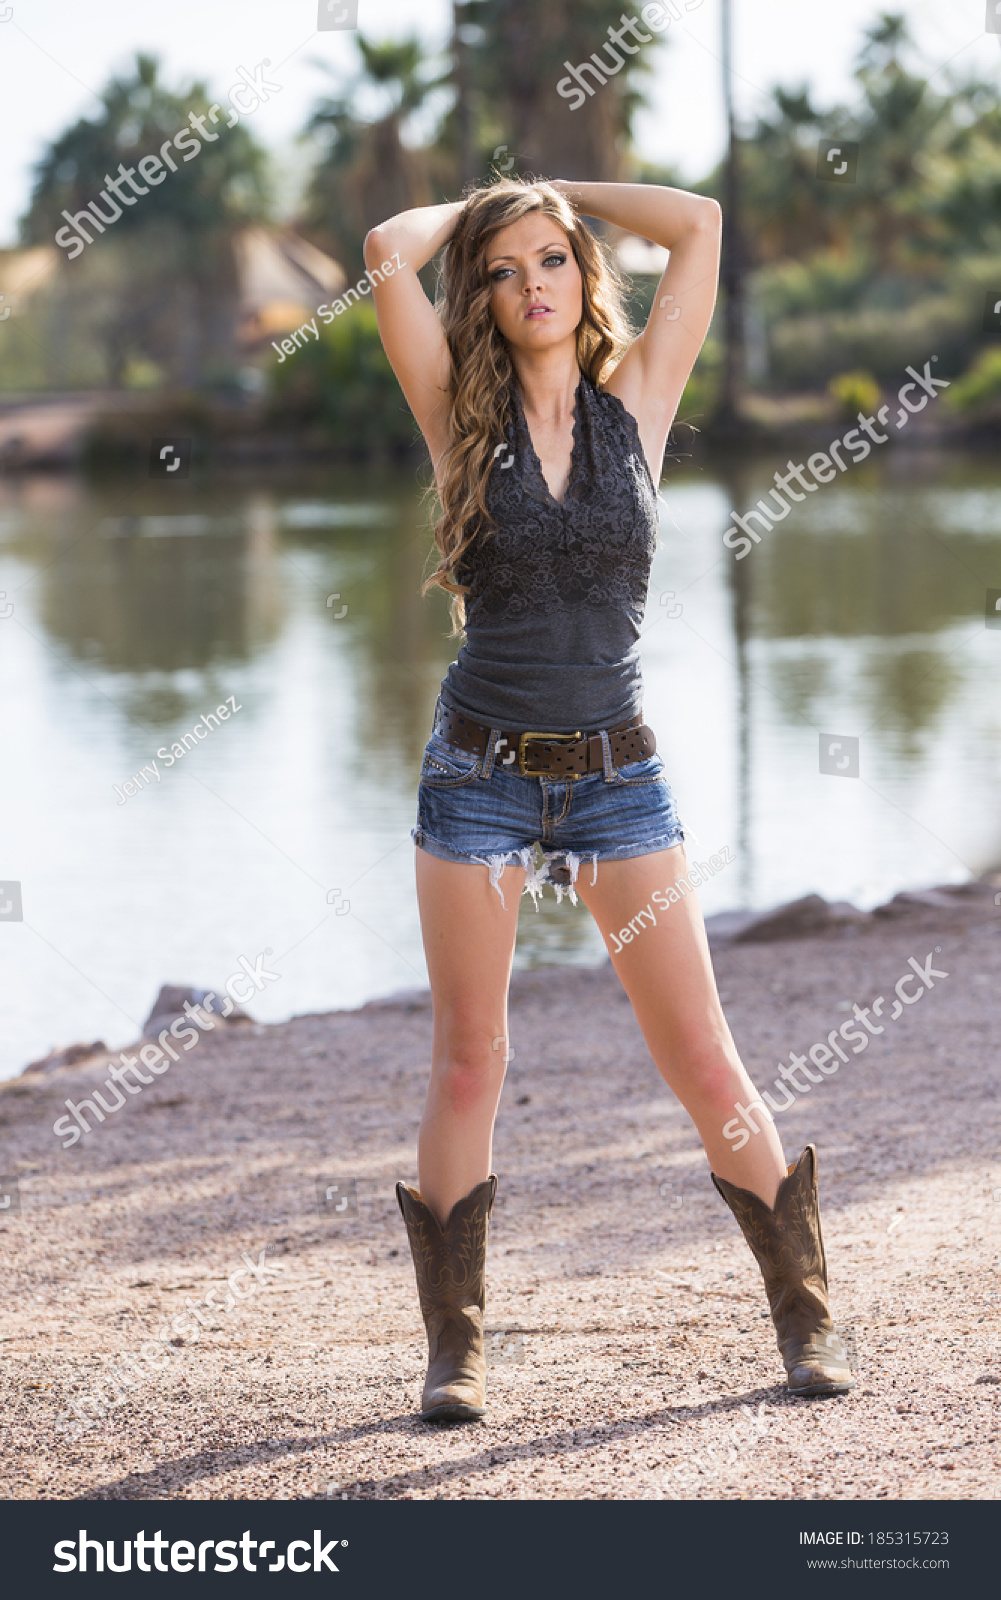
[{"label": "woman in denim shorts and cowboy boots, arms raised behind head", "polygon": [[[670,251],[632,341],[622,285],[579,211]],[[720,1006],[694,896],[672,898],[643,938],[612,944],[686,872],[640,709],[638,635],[656,486],[713,312],[720,227],[715,200],[678,189],[505,178],[403,211],[365,242],[382,344],[441,502],[425,589],[453,595],[453,632],[467,634],[441,683],[413,834],[433,1046],[421,1187],[397,1184],[397,1197],[429,1339],[427,1421],[485,1414],[507,994],[520,896],[545,882],[558,898],[579,890],[696,1123],[761,1267],[788,1387],[852,1387],[830,1318],[814,1147],[787,1171],[766,1110],[739,1149],[723,1133],[737,1102],[761,1102]],[[443,245],[435,309],[417,270]]]}]

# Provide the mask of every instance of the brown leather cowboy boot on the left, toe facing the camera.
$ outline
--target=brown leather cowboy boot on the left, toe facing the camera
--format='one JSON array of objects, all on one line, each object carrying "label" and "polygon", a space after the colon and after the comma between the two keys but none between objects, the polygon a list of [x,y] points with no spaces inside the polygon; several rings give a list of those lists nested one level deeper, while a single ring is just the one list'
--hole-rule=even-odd
[{"label": "brown leather cowboy boot on the left, toe facing the camera", "polygon": [[416,1189],[397,1184],[427,1328],[425,1422],[467,1422],[486,1411],[486,1224],[496,1192],[491,1173],[456,1200],[441,1227]]}]

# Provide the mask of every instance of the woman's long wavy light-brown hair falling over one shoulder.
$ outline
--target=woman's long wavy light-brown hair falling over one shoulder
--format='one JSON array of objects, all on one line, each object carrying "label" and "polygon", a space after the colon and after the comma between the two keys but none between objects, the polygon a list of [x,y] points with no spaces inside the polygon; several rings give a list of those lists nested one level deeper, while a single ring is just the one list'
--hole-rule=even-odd
[{"label": "woman's long wavy light-brown hair falling over one shoulder", "polygon": [[625,288],[611,253],[558,189],[544,179],[499,178],[470,190],[445,250],[435,302],[451,357],[449,427],[441,486],[429,490],[438,501],[433,528],[440,560],[421,589],[422,595],[429,589],[451,595],[451,637],[465,624],[469,584],[457,576],[462,555],[478,534],[496,528],[486,506],[486,480],[497,443],[507,435],[515,379],[507,339],[489,309],[493,283],[486,256],[500,229],[532,211],[560,224],[580,269],[577,365],[584,376],[601,384],[633,336],[624,309]]}]

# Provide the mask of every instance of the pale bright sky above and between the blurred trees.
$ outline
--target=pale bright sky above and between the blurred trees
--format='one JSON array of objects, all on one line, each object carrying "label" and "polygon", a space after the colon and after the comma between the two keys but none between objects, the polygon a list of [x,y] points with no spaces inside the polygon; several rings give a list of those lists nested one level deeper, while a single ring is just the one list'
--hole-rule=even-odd
[{"label": "pale bright sky above and between the blurred trees", "polygon": [[[641,3],[625,0],[624,14],[635,16]],[[643,46],[654,53],[656,72],[646,80],[652,104],[636,120],[636,147],[691,181],[723,149],[720,6],[721,0],[702,0],[672,22],[664,43]],[[753,117],[774,83],[809,83],[820,106],[851,99],[862,30],[887,8],[907,13],[939,83],[950,70],[1001,82],[1001,34],[987,32],[988,10],[998,10],[1001,27],[999,6],[1001,0],[732,0],[739,114]],[[160,58],[168,86],[201,78],[221,101],[240,82],[240,67],[253,75],[261,62],[270,64],[267,78],[280,91],[246,125],[278,155],[291,211],[305,162],[294,138],[329,83],[325,66],[345,74],[357,61],[350,32],[317,32],[317,10],[318,0],[280,6],[169,0],[160,10],[136,0],[0,0],[0,245],[16,240],[45,146],[78,117],[94,115],[98,91],[138,50]],[[449,19],[446,0],[358,0],[358,24],[374,38],[417,32],[440,45]],[[572,115],[569,106],[566,114]]]}]

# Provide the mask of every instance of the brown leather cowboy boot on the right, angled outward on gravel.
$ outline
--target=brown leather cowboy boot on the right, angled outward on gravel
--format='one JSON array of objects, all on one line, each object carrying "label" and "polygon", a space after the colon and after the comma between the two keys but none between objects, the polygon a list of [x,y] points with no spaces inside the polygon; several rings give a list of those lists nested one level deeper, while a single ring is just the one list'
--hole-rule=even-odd
[{"label": "brown leather cowboy boot on the right, angled outward on gravel", "polygon": [[816,1146],[787,1170],[774,1210],[750,1189],[712,1179],[761,1267],[792,1394],[847,1394],[855,1384],[827,1298]]}]

